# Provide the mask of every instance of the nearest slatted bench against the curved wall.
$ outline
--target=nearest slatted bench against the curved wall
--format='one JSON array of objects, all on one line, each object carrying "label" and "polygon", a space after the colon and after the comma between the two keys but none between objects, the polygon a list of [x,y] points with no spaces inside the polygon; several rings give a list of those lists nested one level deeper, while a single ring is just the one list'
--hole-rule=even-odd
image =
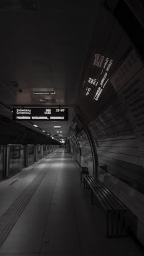
[{"label": "nearest slatted bench against the curved wall", "polygon": [[92,204],[94,194],[105,210],[107,237],[126,236],[126,207],[123,203],[93,175],[84,176],[84,188],[91,189]]}]

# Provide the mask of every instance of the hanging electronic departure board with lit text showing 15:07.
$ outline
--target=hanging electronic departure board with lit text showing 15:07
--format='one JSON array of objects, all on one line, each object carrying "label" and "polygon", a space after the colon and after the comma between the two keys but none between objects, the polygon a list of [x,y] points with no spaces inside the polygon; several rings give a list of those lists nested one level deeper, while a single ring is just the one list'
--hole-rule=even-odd
[{"label": "hanging electronic departure board with lit text showing 15:07", "polygon": [[15,121],[68,121],[68,108],[13,108]]}]

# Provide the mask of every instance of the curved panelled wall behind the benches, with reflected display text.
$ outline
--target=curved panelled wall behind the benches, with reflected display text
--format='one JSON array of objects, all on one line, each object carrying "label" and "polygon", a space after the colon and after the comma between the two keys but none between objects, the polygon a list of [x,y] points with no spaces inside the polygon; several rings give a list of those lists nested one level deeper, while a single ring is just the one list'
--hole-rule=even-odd
[{"label": "curved panelled wall behind the benches, with reflected display text", "polygon": [[[95,47],[76,111],[85,120],[96,147],[99,181],[128,207],[131,230],[144,244],[143,59],[112,13],[104,9],[101,16],[103,24],[93,35]],[[101,62],[107,58],[102,68]],[[98,95],[106,69],[106,84],[100,86],[103,90]],[[84,163],[90,151],[82,129],[76,137]],[[92,150],[89,159],[92,161]]]}]

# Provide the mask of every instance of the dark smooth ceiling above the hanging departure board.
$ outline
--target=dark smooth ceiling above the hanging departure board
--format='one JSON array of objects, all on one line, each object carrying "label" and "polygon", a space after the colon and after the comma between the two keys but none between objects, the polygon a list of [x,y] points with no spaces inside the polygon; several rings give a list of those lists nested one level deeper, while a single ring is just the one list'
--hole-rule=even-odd
[{"label": "dark smooth ceiling above the hanging departure board", "polygon": [[[7,5],[2,5],[7,2]],[[15,4],[13,4],[15,2]],[[54,125],[67,136],[76,104],[93,22],[103,1],[0,1],[0,101],[5,115],[13,106],[63,106],[69,121],[23,122],[54,137]],[[27,1],[31,2],[31,1]],[[54,88],[55,95],[34,95],[32,88]],[[1,105],[3,106],[3,105]],[[1,108],[0,108],[1,111]],[[12,114],[9,111],[10,118]],[[48,136],[48,135],[46,135]]]}]

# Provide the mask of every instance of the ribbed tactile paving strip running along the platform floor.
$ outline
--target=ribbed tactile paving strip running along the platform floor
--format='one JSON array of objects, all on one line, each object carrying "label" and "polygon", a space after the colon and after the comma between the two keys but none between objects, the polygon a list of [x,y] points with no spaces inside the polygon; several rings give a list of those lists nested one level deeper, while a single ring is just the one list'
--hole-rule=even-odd
[{"label": "ribbed tactile paving strip running along the platform floor", "polygon": [[41,170],[40,174],[34,178],[31,184],[27,186],[27,188],[12,203],[12,205],[10,205],[7,211],[2,214],[0,218],[0,248],[7,239],[7,236],[9,236],[9,233],[16,224],[16,221],[18,221],[18,218],[20,218],[24,208],[26,208],[32,196],[34,196],[35,191],[37,191],[38,186],[40,186],[40,183],[43,181],[46,174],[48,174],[48,167]]}]

